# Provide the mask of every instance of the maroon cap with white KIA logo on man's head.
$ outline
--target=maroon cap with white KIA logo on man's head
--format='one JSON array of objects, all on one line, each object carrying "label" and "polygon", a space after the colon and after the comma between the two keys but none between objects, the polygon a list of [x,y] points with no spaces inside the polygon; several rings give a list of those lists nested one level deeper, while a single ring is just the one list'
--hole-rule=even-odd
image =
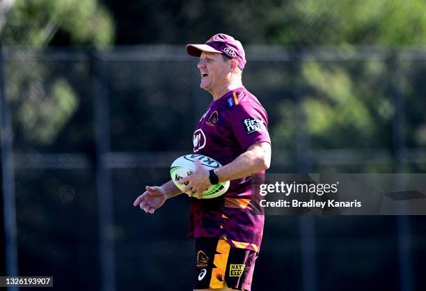
[{"label": "maroon cap with white KIA logo on man's head", "polygon": [[241,42],[225,33],[215,34],[204,45],[187,45],[187,52],[191,56],[201,56],[201,52],[216,52],[229,59],[235,58],[241,70],[246,65],[246,54]]}]

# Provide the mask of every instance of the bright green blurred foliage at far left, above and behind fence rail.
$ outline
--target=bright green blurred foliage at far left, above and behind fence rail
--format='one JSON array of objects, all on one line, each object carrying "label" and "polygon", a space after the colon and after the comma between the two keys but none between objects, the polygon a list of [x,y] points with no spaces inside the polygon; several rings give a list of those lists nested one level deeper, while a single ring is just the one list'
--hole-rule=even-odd
[{"label": "bright green blurred foliage at far left, above and behind fence rail", "polygon": [[[11,2],[1,29],[5,45],[42,48],[58,35],[70,45],[102,49],[111,45],[114,25],[110,13],[97,0],[16,0]],[[68,79],[52,76],[49,63],[31,58],[10,63],[9,98],[14,122],[26,141],[51,144],[77,111],[79,98]],[[70,68],[72,70],[72,68]],[[19,73],[18,73],[19,72]]]}]

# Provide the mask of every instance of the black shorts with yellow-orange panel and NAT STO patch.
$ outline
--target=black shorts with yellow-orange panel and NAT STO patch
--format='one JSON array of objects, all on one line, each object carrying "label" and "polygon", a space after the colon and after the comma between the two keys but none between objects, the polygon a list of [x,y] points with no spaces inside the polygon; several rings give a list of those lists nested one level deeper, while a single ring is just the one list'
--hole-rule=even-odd
[{"label": "black shorts with yellow-orange panel and NAT STO patch", "polygon": [[194,289],[251,290],[258,253],[230,247],[219,237],[196,238]]}]

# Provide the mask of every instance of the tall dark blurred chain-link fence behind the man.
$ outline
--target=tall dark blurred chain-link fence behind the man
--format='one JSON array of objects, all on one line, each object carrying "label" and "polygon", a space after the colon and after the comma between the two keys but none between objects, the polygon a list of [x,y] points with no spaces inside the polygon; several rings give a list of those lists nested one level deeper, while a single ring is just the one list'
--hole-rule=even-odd
[{"label": "tall dark blurred chain-link fence behind the man", "polygon": [[[269,172],[425,171],[426,52],[257,46],[246,55],[244,84],[269,115]],[[16,246],[19,274],[54,276],[58,290],[191,289],[188,199],[154,216],[132,203],[191,152],[211,101],[196,61],[182,46],[3,49],[9,271]],[[359,290],[373,276],[381,290],[423,290],[423,222],[267,217],[253,290]]]}]

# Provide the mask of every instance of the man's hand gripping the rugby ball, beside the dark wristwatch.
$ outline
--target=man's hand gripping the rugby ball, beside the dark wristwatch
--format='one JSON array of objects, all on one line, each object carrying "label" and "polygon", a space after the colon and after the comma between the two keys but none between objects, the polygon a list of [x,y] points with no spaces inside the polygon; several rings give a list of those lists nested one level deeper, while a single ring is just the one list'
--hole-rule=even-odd
[{"label": "man's hand gripping the rugby ball, beside the dark wristwatch", "polygon": [[210,187],[209,171],[201,165],[199,159],[194,160],[196,170],[191,175],[179,181],[180,184],[189,182],[184,187],[183,192],[187,193],[189,197],[195,196],[201,199],[201,194]]}]

